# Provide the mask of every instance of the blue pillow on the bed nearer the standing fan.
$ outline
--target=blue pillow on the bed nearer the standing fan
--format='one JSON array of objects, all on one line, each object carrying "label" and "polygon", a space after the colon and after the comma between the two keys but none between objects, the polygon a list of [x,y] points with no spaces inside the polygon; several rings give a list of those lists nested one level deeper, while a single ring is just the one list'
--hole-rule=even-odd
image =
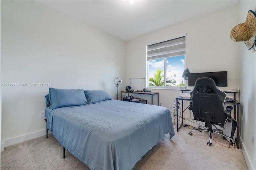
[{"label": "blue pillow on the bed nearer the standing fan", "polygon": [[84,90],[84,94],[88,103],[95,103],[112,99],[108,93],[102,90]]}]

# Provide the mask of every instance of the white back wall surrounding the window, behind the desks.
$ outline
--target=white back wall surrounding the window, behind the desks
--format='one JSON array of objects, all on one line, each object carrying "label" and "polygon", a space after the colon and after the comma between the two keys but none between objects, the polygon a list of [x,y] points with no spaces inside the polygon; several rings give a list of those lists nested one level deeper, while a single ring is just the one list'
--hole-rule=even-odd
[{"label": "white back wall surrounding the window, behind the desks", "polygon": [[[186,33],[186,67],[190,73],[228,71],[228,87],[222,89],[239,89],[238,44],[230,39],[231,29],[238,23],[237,11],[238,6],[232,6],[128,41],[126,67],[134,69],[126,72],[126,81],[146,78],[146,45]],[[159,102],[168,108],[180,96],[179,90],[151,91],[159,92]]]}]

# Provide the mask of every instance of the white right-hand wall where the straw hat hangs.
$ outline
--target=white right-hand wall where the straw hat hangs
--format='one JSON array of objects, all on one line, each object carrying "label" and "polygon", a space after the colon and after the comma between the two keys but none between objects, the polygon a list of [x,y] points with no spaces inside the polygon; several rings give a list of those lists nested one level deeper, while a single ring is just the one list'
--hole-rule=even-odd
[{"label": "white right-hand wall where the straw hat hangs", "polygon": [[[256,11],[256,1],[241,1],[239,14],[243,23],[249,10]],[[242,151],[249,169],[256,170],[256,142],[252,144],[252,135],[256,137],[256,53],[248,50],[244,42],[236,42],[240,53],[240,138]],[[254,138],[255,140],[255,138]]]}]

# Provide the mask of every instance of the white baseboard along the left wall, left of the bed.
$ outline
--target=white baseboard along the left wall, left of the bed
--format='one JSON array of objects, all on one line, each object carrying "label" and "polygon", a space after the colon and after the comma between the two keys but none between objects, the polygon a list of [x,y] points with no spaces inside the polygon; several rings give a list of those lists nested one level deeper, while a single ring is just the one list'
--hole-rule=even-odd
[{"label": "white baseboard along the left wall, left of the bed", "polygon": [[[50,134],[50,133],[51,133],[50,130],[48,130],[48,134]],[[25,142],[27,140],[38,138],[38,137],[44,136],[44,135],[46,135],[46,129],[38,130],[36,132],[31,132],[31,133],[24,134],[24,135],[21,135],[21,136],[17,136],[17,137],[14,137],[14,138],[6,139],[6,140],[3,141],[3,143],[1,143],[1,152],[4,151],[5,147],[8,147],[8,146],[11,146],[11,145],[14,145],[14,144],[18,144],[18,143],[21,143],[21,142]]]}]

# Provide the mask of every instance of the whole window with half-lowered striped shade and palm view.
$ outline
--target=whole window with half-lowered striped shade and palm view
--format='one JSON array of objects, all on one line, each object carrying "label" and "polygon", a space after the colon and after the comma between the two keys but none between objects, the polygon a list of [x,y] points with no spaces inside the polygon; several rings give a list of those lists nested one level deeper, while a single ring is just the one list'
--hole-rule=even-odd
[{"label": "whole window with half-lowered striped shade and palm view", "polygon": [[186,36],[147,46],[147,87],[179,89],[185,86]]}]

